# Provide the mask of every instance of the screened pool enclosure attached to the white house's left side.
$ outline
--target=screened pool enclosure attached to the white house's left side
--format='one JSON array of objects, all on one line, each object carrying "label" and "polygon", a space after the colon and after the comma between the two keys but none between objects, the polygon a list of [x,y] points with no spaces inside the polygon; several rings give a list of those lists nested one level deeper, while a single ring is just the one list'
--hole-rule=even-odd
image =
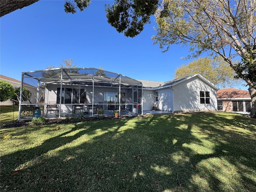
[{"label": "screened pool enclosure attached to the white house's left side", "polygon": [[[37,88],[32,94],[36,103],[24,102],[22,87]],[[142,114],[142,82],[96,68],[54,68],[22,72],[18,119],[41,116],[60,118],[83,112],[96,116],[99,109],[105,115]]]}]

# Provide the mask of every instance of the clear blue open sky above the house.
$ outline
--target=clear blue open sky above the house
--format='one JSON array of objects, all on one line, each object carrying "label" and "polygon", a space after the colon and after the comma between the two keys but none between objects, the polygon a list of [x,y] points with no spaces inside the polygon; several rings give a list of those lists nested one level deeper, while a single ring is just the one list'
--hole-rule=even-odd
[{"label": "clear blue open sky above the house", "polygon": [[[22,72],[59,67],[73,59],[77,67],[100,68],[134,79],[168,81],[182,64],[189,47],[173,45],[162,53],[153,45],[151,24],[135,38],[119,34],[108,24],[105,4],[92,0],[83,12],[67,14],[64,1],[40,0],[0,18],[0,74],[21,79]],[[243,86],[240,88],[247,89]]]}]

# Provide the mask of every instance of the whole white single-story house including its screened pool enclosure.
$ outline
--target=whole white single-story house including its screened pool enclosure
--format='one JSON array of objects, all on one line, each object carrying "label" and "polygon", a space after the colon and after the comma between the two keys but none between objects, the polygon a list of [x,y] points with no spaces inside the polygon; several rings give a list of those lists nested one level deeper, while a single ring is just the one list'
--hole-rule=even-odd
[{"label": "whole white single-story house including its screened pool enclosure", "polygon": [[[143,114],[152,109],[217,110],[218,88],[200,74],[156,82],[96,68],[55,68],[23,72],[22,83],[28,80],[38,84],[38,97],[44,94],[44,103],[37,99],[34,107],[40,106],[46,115],[52,110],[59,117],[83,110],[94,116],[98,108],[105,112],[118,110],[120,115],[127,111]],[[24,105],[20,104],[19,119]]]}]

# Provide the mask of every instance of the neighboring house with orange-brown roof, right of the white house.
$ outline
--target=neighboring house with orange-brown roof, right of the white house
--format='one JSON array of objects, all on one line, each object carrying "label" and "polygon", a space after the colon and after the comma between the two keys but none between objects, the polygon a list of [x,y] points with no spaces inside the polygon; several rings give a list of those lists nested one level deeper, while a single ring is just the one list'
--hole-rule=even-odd
[{"label": "neighboring house with orange-brown roof, right of the white house", "polygon": [[220,89],[217,91],[218,110],[250,114],[252,99],[249,91],[235,88]]}]

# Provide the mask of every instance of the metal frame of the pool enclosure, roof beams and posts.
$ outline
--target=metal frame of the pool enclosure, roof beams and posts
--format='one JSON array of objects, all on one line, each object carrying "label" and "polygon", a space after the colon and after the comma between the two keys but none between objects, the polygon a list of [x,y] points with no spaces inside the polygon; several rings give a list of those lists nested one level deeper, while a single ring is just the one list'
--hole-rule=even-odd
[{"label": "metal frame of the pool enclosure, roof beams and posts", "polygon": [[[94,103],[94,89],[95,87],[116,87],[119,90],[119,115],[120,115],[120,106],[121,106],[121,88],[133,90],[141,90],[141,102],[134,103],[134,98],[132,94],[132,102],[126,102],[126,105],[139,104],[141,107],[141,114],[143,113],[143,86],[142,82],[135,80],[133,78],[124,76],[122,74],[97,69],[97,68],[53,68],[46,70],[37,70],[30,72],[22,72],[21,77],[21,89],[20,89],[20,101],[22,101],[22,87],[23,84],[33,84],[37,87],[36,93],[36,103],[31,105],[40,106],[47,105],[48,97],[46,95],[47,85],[49,84],[57,84],[60,85],[60,90],[62,90],[63,85],[72,85],[72,86],[90,86],[92,87],[92,108],[96,103]],[[40,97],[45,98],[46,101],[40,102]],[[138,98],[137,98],[137,101]],[[62,97],[60,97],[60,102],[57,103],[59,105],[58,118],[61,117],[62,106]],[[18,120],[21,119],[21,111],[22,106],[28,105],[20,102],[19,104],[19,114]],[[92,110],[92,116],[94,112]]]}]

